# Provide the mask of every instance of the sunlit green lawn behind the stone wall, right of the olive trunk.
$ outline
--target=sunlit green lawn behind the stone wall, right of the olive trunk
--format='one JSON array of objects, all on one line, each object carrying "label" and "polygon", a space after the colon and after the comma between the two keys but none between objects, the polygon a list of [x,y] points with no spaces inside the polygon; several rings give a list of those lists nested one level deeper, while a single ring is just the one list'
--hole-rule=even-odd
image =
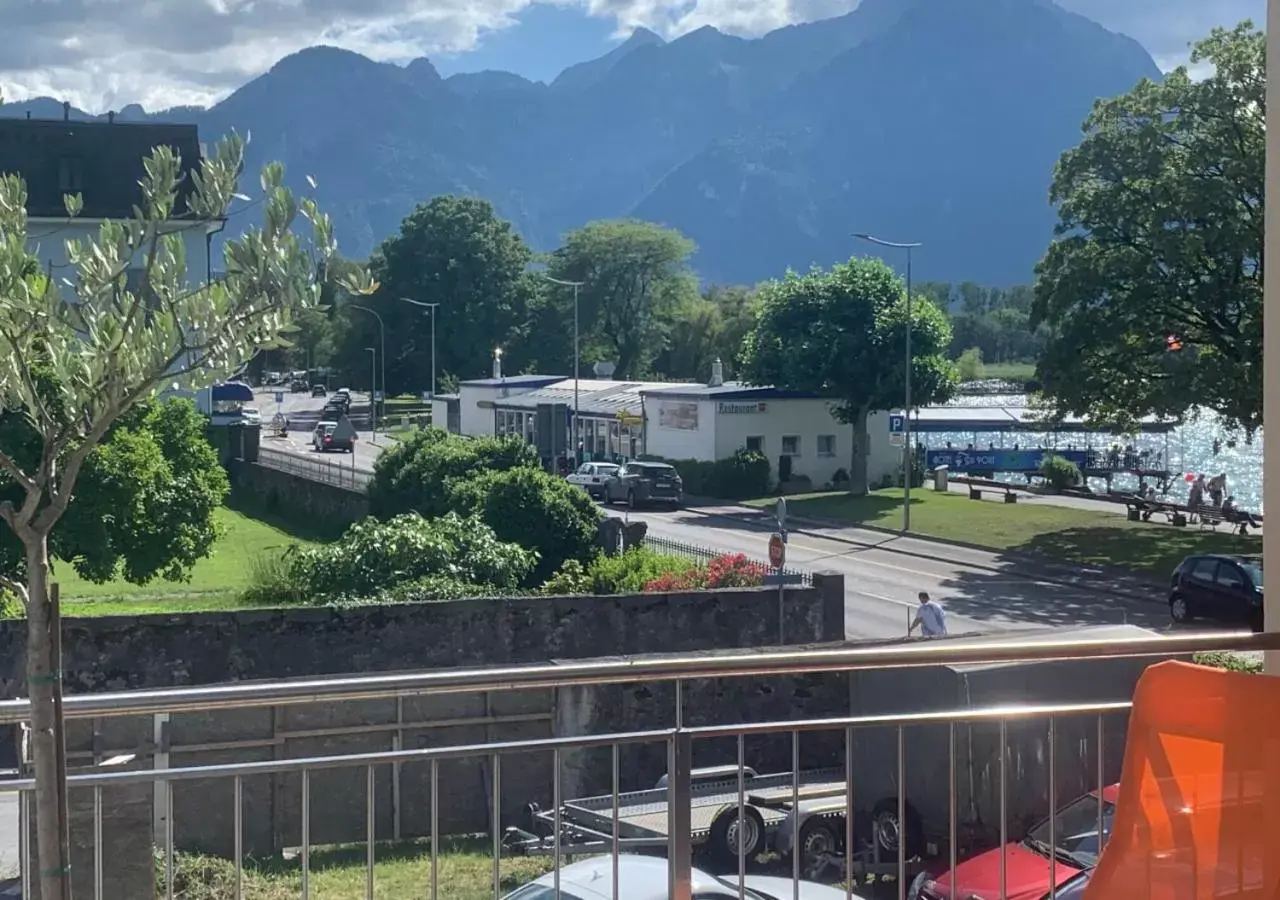
[{"label": "sunlit green lawn behind the stone wall, right of the olive trunk", "polygon": [[[244,511],[221,508],[214,518],[223,534],[212,556],[191,570],[189,581],[152,581],[132,585],[123,579],[93,584],[70,565],[56,563],[54,577],[61,585],[67,616],[116,616],[155,612],[189,612],[242,607],[241,593],[250,585],[256,559],[279,556],[293,543],[310,543],[317,535],[283,521],[264,521]],[[274,517],[271,517],[274,518]]]}]

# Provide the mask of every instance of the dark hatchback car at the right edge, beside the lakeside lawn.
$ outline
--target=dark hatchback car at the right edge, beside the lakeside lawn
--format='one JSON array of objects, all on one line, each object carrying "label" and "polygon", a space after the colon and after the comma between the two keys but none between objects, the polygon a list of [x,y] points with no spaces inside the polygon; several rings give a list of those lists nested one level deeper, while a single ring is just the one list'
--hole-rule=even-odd
[{"label": "dark hatchback car at the right edge, beside the lakeside lawn", "polygon": [[1208,618],[1262,630],[1262,561],[1207,553],[1178,563],[1169,585],[1175,622]]}]

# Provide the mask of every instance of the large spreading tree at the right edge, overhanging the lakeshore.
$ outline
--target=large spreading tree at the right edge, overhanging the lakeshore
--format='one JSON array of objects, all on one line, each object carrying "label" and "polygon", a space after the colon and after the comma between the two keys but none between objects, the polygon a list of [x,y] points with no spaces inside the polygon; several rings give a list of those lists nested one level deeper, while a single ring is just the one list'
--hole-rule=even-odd
[{"label": "large spreading tree at the right edge, overhanging the lakeshore", "polygon": [[1266,38],[1215,29],[1201,63],[1203,81],[1179,68],[1100,102],[1057,164],[1032,320],[1061,414],[1125,426],[1203,406],[1262,425]]}]

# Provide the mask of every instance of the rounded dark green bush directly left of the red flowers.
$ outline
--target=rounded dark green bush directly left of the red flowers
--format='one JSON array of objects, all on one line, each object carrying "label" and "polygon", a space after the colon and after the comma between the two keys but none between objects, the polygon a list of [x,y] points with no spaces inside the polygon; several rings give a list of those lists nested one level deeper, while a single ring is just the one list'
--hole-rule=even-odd
[{"label": "rounded dark green bush directly left of the red flowers", "polygon": [[589,562],[595,554],[600,508],[581,488],[540,469],[454,480],[449,502],[481,518],[499,540],[536,550],[529,584],[549,579],[566,559]]}]

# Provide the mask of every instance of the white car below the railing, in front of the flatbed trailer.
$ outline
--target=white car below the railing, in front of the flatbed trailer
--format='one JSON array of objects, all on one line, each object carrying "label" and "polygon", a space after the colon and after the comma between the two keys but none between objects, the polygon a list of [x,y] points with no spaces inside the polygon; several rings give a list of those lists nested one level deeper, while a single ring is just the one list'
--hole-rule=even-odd
[{"label": "white car below the railing, in front of the flatbed trailer", "polygon": [[[613,895],[613,859],[595,856],[559,869],[559,900],[668,900],[667,860],[659,856],[618,855],[618,894]],[[845,900],[842,887],[800,882],[796,894],[790,878],[749,874],[742,881],[746,900]],[[739,900],[733,882],[700,869],[692,872],[692,895],[698,900]],[[556,900],[556,876],[544,874],[517,887],[506,900]],[[858,895],[854,895],[858,900]]]}]

